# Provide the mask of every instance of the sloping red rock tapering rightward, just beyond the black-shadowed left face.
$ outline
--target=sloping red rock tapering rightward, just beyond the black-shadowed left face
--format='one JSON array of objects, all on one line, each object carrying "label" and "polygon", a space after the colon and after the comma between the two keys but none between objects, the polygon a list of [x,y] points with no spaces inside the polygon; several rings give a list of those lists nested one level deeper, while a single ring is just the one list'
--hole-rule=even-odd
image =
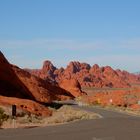
[{"label": "sloping red rock tapering rightward, just beyond the black-shadowed left face", "polygon": [[53,100],[71,99],[73,96],[66,90],[52,85],[27,71],[16,66],[12,67],[18,78],[26,85],[32,96],[39,102],[51,102]]}]

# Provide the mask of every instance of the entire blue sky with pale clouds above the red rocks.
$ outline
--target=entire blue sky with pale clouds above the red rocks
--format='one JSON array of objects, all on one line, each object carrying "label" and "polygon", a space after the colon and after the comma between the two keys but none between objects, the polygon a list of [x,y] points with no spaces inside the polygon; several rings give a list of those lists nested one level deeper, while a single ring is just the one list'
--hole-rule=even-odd
[{"label": "entire blue sky with pale clouds above the red rocks", "polygon": [[140,71],[139,0],[0,0],[0,50],[22,68],[70,61]]}]

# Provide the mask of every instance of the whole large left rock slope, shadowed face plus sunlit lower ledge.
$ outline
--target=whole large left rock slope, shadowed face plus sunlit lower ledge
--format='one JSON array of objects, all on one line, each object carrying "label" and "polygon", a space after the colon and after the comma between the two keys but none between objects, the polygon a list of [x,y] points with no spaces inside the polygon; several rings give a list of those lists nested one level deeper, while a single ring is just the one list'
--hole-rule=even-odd
[{"label": "whole large left rock slope, shadowed face plus sunlit lower ledge", "polygon": [[0,104],[16,104],[34,114],[50,115],[51,111],[37,102],[72,98],[68,91],[10,65],[0,52]]}]

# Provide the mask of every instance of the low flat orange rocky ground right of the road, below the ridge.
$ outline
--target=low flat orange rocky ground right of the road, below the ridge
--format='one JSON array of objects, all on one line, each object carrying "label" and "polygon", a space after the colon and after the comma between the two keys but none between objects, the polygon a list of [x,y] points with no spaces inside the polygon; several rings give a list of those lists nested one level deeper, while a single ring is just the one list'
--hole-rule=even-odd
[{"label": "low flat orange rocky ground right of the road, below the ridge", "polygon": [[139,110],[140,87],[133,87],[125,90],[100,90],[89,93],[89,96],[82,96],[81,101],[85,104],[101,106],[128,107],[132,110]]}]

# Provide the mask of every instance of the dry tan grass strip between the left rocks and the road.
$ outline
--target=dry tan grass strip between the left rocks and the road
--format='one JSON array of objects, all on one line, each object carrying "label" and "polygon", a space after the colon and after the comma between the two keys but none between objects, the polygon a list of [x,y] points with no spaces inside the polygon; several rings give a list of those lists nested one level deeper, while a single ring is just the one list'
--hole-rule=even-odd
[{"label": "dry tan grass strip between the left rocks and the road", "polygon": [[[88,119],[98,119],[101,118],[100,115],[92,112],[83,111],[80,109],[73,108],[71,106],[64,105],[60,109],[53,110],[53,115],[51,117],[37,117],[35,115],[17,117],[16,127],[31,127],[31,126],[49,126],[69,123],[78,120],[88,120]],[[12,128],[13,121],[8,119],[3,123],[2,128]]]}]

